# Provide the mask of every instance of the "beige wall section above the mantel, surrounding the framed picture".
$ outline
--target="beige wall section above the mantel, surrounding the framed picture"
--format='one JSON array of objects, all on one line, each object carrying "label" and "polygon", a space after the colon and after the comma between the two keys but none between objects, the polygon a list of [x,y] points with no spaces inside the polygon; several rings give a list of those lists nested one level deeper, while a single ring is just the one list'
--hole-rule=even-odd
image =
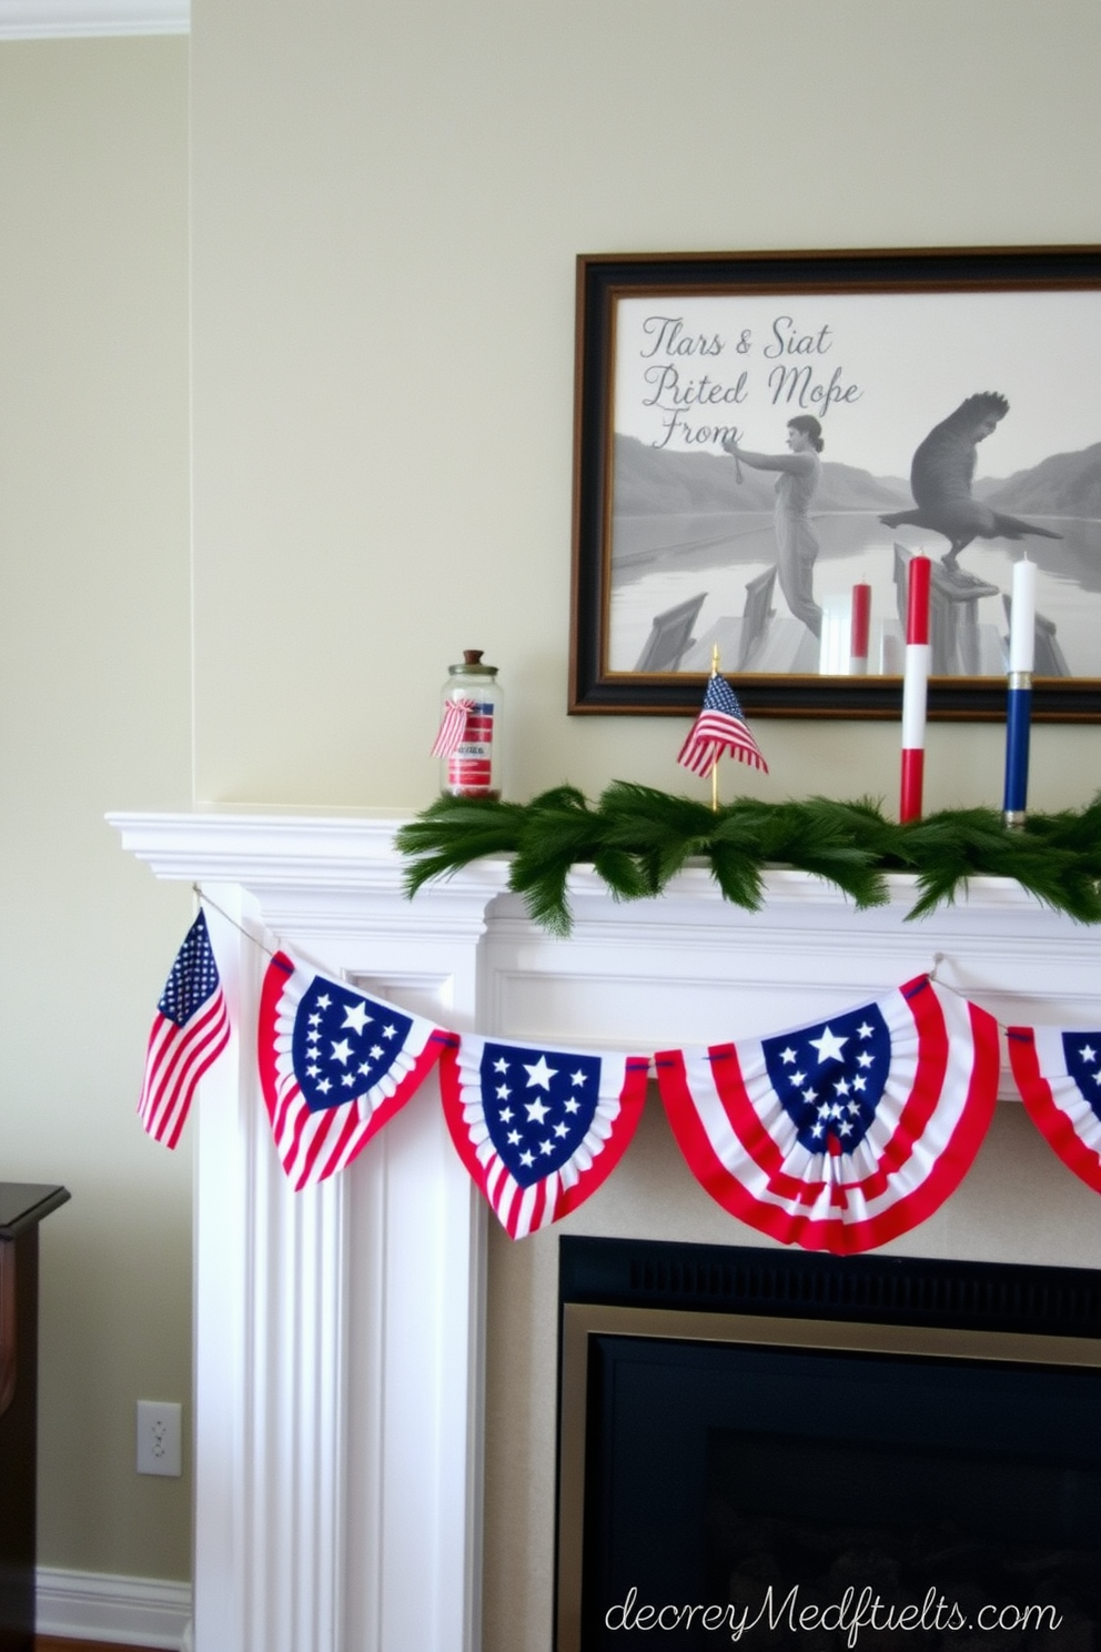
[{"label": "beige wall section above the mantel, surrounding the framed picture", "polygon": [[[196,0],[191,45],[200,798],[423,805],[465,646],[518,796],[678,786],[675,724],[563,710],[578,251],[1098,236],[1094,0]],[[895,791],[896,725],[764,733],[730,785]],[[1098,745],[1045,730],[1035,795]],[[929,805],[1000,767],[939,725]]]}]

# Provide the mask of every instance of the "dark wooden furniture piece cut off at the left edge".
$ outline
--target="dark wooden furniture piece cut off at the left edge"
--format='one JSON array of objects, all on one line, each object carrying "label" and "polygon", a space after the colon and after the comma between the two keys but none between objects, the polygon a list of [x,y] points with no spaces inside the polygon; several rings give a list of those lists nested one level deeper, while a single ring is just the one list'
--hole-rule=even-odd
[{"label": "dark wooden furniture piece cut off at the left edge", "polygon": [[38,1224],[68,1198],[0,1181],[0,1652],[35,1647]]}]

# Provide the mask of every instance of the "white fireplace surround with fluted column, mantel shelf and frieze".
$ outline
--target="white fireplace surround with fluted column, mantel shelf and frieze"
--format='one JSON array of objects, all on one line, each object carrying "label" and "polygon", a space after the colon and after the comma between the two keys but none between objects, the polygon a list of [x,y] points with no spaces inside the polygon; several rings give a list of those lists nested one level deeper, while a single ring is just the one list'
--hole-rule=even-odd
[{"label": "white fireplace surround with fluted column, mantel shelf and frieze", "polygon": [[779,1031],[938,955],[941,978],[1002,1023],[1101,1019],[1096,933],[1009,881],[976,881],[966,902],[910,923],[910,877],[890,881],[888,905],[853,912],[830,885],[774,871],[766,909],[746,914],[703,869],[637,904],[581,869],[561,942],[507,894],[505,861],[409,902],[393,816],[109,819],[157,877],[201,884],[221,909],[208,920],[236,1029],[188,1125],[196,1652],[482,1645],[485,1211],[432,1079],[345,1175],[289,1191],[256,1079],[267,960],[254,942],[457,1031],[640,1054]]}]

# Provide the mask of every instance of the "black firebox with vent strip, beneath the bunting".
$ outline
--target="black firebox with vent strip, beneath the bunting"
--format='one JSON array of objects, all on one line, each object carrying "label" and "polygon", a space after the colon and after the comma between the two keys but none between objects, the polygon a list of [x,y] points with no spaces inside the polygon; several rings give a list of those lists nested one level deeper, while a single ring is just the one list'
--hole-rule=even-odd
[{"label": "black firebox with vent strip, beneath the bunting", "polygon": [[[563,1302],[593,1277],[616,1294],[607,1272],[626,1252],[609,1244],[563,1241]],[[1098,1280],[1081,1270],[981,1280],[908,1264],[908,1317],[883,1259],[870,1259],[878,1280],[852,1262],[817,1275],[837,1298],[824,1303],[799,1270],[820,1259],[792,1257],[779,1277],[782,1254],[723,1252],[715,1292],[715,1257],[708,1272],[700,1254],[713,1247],[642,1247],[644,1262],[631,1246],[662,1308],[687,1277],[723,1297],[710,1312],[761,1322],[947,1320],[1032,1338],[1040,1322],[1051,1348],[1098,1332]],[[637,1305],[631,1272],[611,1307]],[[687,1297],[698,1312],[700,1292]],[[581,1599],[571,1622],[560,1597],[563,1652],[1101,1652],[1101,1353],[1094,1366],[601,1330],[586,1348]]]}]

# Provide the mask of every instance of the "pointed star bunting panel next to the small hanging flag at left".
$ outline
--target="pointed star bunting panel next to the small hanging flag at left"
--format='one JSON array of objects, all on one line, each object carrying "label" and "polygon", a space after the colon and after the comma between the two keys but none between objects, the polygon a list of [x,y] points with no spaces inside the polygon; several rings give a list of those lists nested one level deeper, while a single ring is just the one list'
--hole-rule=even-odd
[{"label": "pointed star bunting panel next to the small hanging flag at left", "polygon": [[277,952],[261,993],[258,1061],[276,1150],[294,1186],[350,1165],[451,1039],[423,1016]]}]

